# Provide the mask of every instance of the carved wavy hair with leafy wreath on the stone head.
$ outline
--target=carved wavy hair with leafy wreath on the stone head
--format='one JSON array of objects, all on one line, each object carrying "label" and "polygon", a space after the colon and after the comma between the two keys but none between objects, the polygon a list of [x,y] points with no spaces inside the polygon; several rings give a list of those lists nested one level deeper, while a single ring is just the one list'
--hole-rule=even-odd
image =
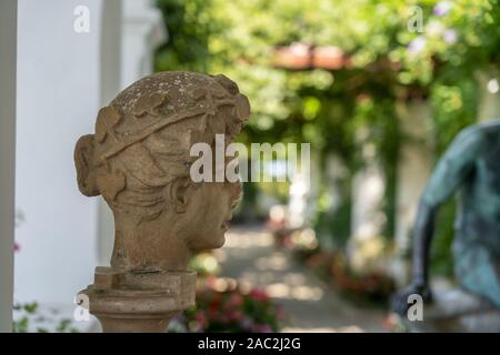
[{"label": "carved wavy hair with leafy wreath on the stone head", "polygon": [[94,134],[78,141],[79,189],[102,194],[113,211],[154,219],[168,205],[167,185],[191,183],[191,145],[212,144],[217,133],[232,139],[249,114],[247,98],[224,75],[147,77],[102,108]]}]

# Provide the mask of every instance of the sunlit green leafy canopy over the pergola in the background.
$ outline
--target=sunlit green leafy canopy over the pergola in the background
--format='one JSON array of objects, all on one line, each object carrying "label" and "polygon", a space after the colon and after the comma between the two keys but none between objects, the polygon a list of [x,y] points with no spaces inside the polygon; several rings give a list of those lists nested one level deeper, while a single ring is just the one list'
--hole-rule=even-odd
[{"label": "sunlit green leafy canopy over the pergola in the background", "polygon": [[[360,148],[372,145],[388,183],[387,236],[394,225],[404,140],[394,106],[414,98],[431,103],[439,155],[476,121],[476,74],[500,63],[499,0],[158,0],[158,6],[170,41],[157,53],[157,70],[222,72],[238,82],[252,104],[242,142],[310,142],[313,154],[334,154],[352,172],[363,164]],[[422,28],[412,31],[419,9]],[[273,50],[293,42],[339,47],[351,64],[337,71],[273,67]],[[328,234],[341,242],[344,231],[329,223],[332,214],[321,213],[319,227],[331,229]],[[440,232],[444,241],[451,233]]]}]

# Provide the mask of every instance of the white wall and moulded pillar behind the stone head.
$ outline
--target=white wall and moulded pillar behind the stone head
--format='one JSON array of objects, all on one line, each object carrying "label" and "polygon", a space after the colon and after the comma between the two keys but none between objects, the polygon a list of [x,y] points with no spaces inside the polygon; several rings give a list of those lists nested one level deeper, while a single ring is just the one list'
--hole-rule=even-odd
[{"label": "white wall and moulded pillar behind the stone head", "polygon": [[[90,10],[88,33],[73,30],[78,6]],[[17,301],[70,304],[94,266],[109,264],[112,219],[101,197],[78,191],[73,149],[99,108],[152,72],[164,40],[148,0],[20,0]]]}]

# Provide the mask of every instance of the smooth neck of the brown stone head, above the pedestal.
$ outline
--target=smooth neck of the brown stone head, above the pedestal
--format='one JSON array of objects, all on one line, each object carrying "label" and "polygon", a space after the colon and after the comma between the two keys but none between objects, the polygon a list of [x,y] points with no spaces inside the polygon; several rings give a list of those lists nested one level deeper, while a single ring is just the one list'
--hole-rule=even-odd
[{"label": "smooth neck of the brown stone head, above the pedestal", "polygon": [[184,271],[190,251],[182,237],[154,229],[116,223],[111,266],[124,270]]}]

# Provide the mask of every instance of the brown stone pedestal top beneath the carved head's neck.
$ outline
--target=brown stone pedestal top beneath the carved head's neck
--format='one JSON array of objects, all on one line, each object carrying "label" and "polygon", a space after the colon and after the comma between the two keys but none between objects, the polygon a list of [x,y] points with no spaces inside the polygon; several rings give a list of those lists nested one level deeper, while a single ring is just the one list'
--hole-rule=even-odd
[{"label": "brown stone pedestal top beneath the carved head's neck", "polygon": [[194,305],[194,272],[122,272],[96,267],[94,284],[81,291],[104,333],[166,332],[170,320]]}]

